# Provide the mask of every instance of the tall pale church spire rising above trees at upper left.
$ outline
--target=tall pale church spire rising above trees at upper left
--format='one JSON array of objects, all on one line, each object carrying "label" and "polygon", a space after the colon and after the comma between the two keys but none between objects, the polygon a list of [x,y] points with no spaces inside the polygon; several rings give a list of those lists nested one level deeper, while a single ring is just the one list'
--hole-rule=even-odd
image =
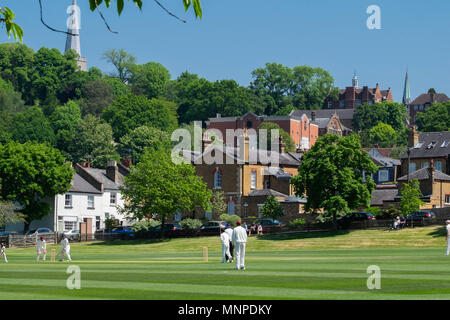
[{"label": "tall pale church spire rising above trees at upper left", "polygon": [[75,50],[78,53],[79,58],[77,59],[78,67],[82,71],[86,71],[86,58],[81,55],[81,45],[80,45],[80,8],[77,6],[77,0],[72,0],[72,5],[68,7],[67,13],[70,15],[67,19],[67,39],[66,39],[66,50]]}]

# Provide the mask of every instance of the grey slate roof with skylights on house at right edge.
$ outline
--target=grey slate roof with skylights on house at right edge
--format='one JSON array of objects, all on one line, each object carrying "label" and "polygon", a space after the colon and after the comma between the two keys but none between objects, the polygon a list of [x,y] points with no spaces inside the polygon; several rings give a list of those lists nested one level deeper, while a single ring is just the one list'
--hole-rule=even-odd
[{"label": "grey slate roof with skylights on house at right edge", "polygon": [[[419,143],[411,148],[413,158],[441,158],[450,154],[450,131],[424,132],[419,134]],[[407,159],[405,152],[401,156]]]}]

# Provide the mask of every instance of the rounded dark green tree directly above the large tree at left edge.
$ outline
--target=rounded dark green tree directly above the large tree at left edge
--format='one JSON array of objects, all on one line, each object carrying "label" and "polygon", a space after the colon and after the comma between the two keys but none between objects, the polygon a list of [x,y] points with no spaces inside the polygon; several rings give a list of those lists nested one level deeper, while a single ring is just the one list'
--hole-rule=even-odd
[{"label": "rounded dark green tree directly above the large tree at left edge", "polygon": [[53,128],[39,107],[29,107],[14,116],[12,139],[21,143],[35,141],[55,145]]}]

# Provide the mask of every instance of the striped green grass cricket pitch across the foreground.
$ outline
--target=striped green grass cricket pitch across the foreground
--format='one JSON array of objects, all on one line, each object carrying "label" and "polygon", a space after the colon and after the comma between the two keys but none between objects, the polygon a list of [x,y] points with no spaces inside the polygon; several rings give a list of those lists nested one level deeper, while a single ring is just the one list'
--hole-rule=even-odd
[{"label": "striped green grass cricket pitch across the foreground", "polygon": [[[245,271],[220,263],[218,237],[71,247],[72,263],[8,249],[1,299],[450,299],[441,227],[252,236]],[[80,290],[66,287],[69,265],[81,269]],[[367,289],[370,265],[381,269],[380,290]]]}]

